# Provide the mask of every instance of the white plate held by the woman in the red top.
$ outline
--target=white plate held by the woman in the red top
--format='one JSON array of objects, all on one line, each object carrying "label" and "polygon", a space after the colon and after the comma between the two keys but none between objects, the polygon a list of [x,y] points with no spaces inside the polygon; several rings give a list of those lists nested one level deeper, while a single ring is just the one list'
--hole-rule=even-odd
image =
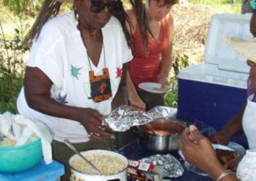
[{"label": "white plate held by the woman in the red top", "polygon": [[154,94],[163,94],[171,90],[171,87],[164,87],[161,89],[161,83],[155,83],[155,82],[143,82],[138,85],[140,89],[143,89],[144,91],[151,92]]}]

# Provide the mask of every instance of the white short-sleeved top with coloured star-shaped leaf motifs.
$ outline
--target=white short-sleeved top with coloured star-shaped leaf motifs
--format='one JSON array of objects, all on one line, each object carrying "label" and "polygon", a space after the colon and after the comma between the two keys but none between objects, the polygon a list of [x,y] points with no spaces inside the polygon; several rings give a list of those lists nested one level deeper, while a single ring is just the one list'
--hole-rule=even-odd
[{"label": "white short-sleeved top with coloured star-shaped leaf motifs", "polygon": [[[122,64],[131,61],[132,53],[120,22],[115,17],[111,17],[102,28],[102,34],[106,64],[102,50],[98,66],[91,62],[92,70],[95,75],[101,75],[103,68],[109,69],[112,94],[115,96],[122,75]],[[111,112],[113,98],[100,103],[88,99],[90,66],[73,11],[52,18],[44,25],[38,40],[33,43],[27,66],[41,69],[51,79],[51,97],[60,103],[93,108],[104,115]],[[68,138],[75,143],[87,140],[87,132],[79,122],[52,117],[29,108],[23,88],[17,100],[17,108],[20,114],[29,119],[41,120],[50,126],[55,140]]]}]

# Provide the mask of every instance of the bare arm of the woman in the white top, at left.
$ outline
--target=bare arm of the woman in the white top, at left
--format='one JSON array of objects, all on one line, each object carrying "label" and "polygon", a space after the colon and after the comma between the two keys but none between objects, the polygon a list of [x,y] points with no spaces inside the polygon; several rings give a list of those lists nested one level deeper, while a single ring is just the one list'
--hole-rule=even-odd
[{"label": "bare arm of the woman in the white top, at left", "polygon": [[24,91],[29,107],[38,112],[54,117],[76,120],[80,122],[88,133],[100,133],[101,136],[93,134],[91,140],[103,140],[111,136],[110,133],[101,131],[98,126],[102,126],[104,115],[92,108],[79,108],[58,103],[51,98],[51,79],[38,68],[27,67]]}]

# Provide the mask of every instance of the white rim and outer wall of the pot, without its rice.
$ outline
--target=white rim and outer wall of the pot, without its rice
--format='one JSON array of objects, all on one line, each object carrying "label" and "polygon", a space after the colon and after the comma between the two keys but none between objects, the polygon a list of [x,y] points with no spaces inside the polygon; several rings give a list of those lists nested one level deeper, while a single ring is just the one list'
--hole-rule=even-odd
[{"label": "white rim and outer wall of the pot, without its rice", "polygon": [[[72,166],[72,163],[76,159],[80,159],[80,157],[75,154],[74,156],[70,157],[68,163],[71,168],[71,178],[70,180],[76,181],[76,180],[81,180],[81,181],[126,181],[127,180],[127,168],[128,168],[128,160],[126,157],[122,156],[121,154],[118,154],[116,152],[111,152],[108,150],[88,150],[81,152],[84,157],[92,156],[95,154],[101,155],[108,155],[108,156],[114,156],[118,157],[125,163],[125,168],[123,170],[120,170],[118,173],[113,173],[109,175],[97,175],[97,174],[91,174],[91,173],[84,173],[81,171],[78,171]],[[109,166],[111,166],[111,163],[104,163]]]}]

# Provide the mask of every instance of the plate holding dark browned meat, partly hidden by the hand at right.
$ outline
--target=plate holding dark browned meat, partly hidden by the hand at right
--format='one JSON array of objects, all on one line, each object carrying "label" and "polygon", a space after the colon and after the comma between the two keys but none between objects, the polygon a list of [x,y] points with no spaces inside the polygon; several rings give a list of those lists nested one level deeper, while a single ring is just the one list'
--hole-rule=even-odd
[{"label": "plate holding dark browned meat, partly hidden by the hand at right", "polygon": [[[212,147],[214,147],[214,149],[236,151],[237,154],[239,154],[239,156],[243,156],[246,153],[246,150],[243,146],[239,145],[238,143],[232,142],[232,141],[230,141],[227,146],[219,145],[219,144],[212,144]],[[199,168],[196,168],[195,166],[188,163],[186,161],[184,155],[182,154],[181,150],[178,150],[178,153],[179,153],[180,157],[182,157],[182,159],[184,159],[184,168],[186,168],[186,170],[189,170],[198,175],[208,176],[208,174],[204,170],[200,170]]]}]

